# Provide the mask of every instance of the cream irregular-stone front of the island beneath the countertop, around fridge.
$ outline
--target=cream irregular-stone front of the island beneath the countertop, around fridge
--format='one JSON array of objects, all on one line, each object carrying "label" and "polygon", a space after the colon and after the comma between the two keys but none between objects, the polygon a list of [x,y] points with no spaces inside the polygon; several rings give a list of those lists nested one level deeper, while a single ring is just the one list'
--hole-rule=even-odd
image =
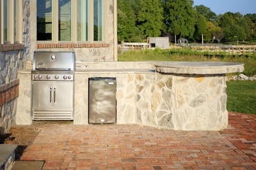
[{"label": "cream irregular-stone front of the island beneath the countertop, around fridge", "polygon": [[90,77],[116,77],[117,124],[188,131],[227,127],[224,74],[193,77],[139,71],[77,73],[74,124],[88,124]]}]

